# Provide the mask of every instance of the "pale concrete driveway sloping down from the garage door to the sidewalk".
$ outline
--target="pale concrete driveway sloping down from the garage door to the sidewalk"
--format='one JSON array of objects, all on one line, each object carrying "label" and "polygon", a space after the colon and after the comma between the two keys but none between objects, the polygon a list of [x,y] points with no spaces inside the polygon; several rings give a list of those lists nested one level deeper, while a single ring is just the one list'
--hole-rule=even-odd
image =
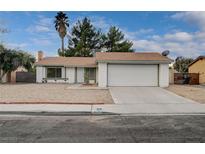
[{"label": "pale concrete driveway sloping down from the garage door to the sidewalk", "polygon": [[111,87],[110,92],[117,104],[194,103],[160,87]]}]

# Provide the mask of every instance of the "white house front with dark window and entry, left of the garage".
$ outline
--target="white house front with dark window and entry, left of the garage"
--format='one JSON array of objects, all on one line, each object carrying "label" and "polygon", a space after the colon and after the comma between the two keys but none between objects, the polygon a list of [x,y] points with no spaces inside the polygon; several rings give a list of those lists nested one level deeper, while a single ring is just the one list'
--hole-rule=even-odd
[{"label": "white house front with dark window and entry, left of the garage", "polygon": [[97,67],[37,67],[37,83],[97,84]]}]

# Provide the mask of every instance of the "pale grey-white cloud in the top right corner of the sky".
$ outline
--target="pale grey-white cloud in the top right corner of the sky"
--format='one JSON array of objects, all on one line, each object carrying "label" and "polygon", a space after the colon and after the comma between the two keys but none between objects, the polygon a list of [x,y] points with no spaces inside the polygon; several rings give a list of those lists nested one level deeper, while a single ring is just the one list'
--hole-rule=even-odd
[{"label": "pale grey-white cloud in the top right corner of the sky", "polygon": [[182,20],[190,24],[196,24],[205,31],[205,11],[178,12],[171,16],[172,19]]}]

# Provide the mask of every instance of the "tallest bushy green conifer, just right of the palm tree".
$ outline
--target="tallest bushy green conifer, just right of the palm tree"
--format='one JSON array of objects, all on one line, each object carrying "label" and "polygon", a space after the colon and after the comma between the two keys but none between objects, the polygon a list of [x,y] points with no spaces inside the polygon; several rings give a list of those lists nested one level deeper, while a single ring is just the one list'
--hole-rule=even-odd
[{"label": "tallest bushy green conifer, just right of the palm tree", "polygon": [[[65,56],[91,57],[102,48],[102,34],[88,18],[78,21],[72,28]],[[61,55],[61,52],[59,52]]]}]

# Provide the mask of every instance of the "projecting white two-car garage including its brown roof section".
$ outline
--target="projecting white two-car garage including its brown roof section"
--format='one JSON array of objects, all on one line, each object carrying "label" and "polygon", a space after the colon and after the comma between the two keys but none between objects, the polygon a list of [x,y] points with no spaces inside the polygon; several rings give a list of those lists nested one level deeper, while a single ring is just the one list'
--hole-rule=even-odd
[{"label": "projecting white two-car garage including its brown roof section", "polygon": [[156,52],[97,52],[98,85],[169,86],[171,60]]}]

